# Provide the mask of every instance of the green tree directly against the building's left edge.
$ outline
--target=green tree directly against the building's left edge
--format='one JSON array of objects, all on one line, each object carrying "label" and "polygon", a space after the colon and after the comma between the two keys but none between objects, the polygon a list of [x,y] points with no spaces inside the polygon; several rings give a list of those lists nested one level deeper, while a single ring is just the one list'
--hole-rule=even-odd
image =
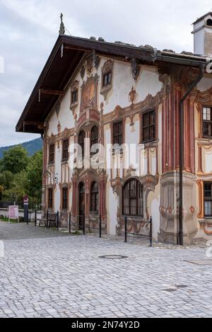
[{"label": "green tree directly against the building's left edge", "polygon": [[42,193],[42,151],[36,152],[26,169],[25,190],[30,198],[41,201]]}]

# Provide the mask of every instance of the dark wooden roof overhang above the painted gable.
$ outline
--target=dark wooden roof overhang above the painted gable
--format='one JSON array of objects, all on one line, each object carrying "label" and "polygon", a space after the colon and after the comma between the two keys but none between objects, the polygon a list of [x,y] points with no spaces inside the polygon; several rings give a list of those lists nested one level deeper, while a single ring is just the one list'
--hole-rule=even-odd
[{"label": "dark wooden roof overhang above the painted gable", "polygon": [[16,132],[42,134],[47,116],[59,97],[63,96],[73,72],[88,51],[122,59],[136,58],[143,63],[153,63],[156,59],[156,51],[147,47],[59,35],[18,120]]}]

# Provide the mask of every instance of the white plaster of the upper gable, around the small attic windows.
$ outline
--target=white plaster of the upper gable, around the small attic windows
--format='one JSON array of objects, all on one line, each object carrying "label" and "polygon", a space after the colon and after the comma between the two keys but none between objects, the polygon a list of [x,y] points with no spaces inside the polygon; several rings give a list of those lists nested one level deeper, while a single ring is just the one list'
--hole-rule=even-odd
[{"label": "white plaster of the upper gable, around the small attic windows", "polygon": [[[155,96],[163,87],[162,83],[158,79],[157,70],[153,67],[143,66],[141,67],[141,73],[139,79],[134,81],[131,74],[131,64],[127,62],[121,62],[114,60],[114,71],[112,78],[112,90],[107,97],[107,101],[104,101],[104,97],[100,94],[100,86],[102,84],[102,67],[108,58],[101,57],[100,65],[98,70],[93,69],[93,75],[98,74],[99,84],[98,84],[98,109],[100,110],[100,104],[104,103],[104,114],[110,113],[116,108],[117,105],[121,107],[126,107],[131,105],[129,101],[129,92],[131,91],[132,86],[136,89],[136,101],[144,101],[148,94]],[[70,86],[67,88],[65,96],[61,98],[61,107],[59,111],[59,116],[57,117],[56,113],[53,111],[52,115],[48,119],[49,130],[47,132],[48,136],[51,134],[57,134],[57,125],[58,122],[61,125],[61,132],[65,128],[73,128],[75,121],[73,114],[70,110],[71,103],[71,83],[73,81],[79,81],[79,93],[78,93],[78,107],[76,108],[75,113],[79,115],[80,110],[80,101],[81,101],[81,86],[83,81],[87,81],[89,75],[85,74],[84,78],[81,79],[80,70],[75,77],[71,78]]]}]

